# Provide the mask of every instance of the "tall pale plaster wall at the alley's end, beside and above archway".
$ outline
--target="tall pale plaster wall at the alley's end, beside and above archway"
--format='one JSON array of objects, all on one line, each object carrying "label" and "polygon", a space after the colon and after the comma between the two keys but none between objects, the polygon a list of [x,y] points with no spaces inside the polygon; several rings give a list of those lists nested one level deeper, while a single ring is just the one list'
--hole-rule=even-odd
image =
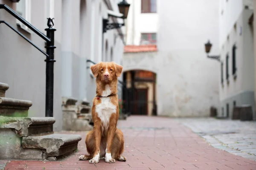
[{"label": "tall pale plaster wall at the alley's end, beside and above archway", "polygon": [[157,11],[158,51],[125,53],[125,70],[157,73],[158,115],[209,116],[219,105],[220,63],[206,57],[204,43],[211,40],[211,54],[219,54],[218,2],[159,0]]}]

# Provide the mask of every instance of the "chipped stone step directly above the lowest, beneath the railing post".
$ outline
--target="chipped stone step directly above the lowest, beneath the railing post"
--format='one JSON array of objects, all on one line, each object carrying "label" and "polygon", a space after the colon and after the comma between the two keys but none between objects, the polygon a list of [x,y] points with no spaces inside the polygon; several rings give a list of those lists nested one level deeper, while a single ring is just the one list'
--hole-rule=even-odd
[{"label": "chipped stone step directly above the lowest, beneath the railing post", "polygon": [[13,129],[17,136],[36,136],[52,133],[53,117],[6,117],[0,116],[0,129]]}]

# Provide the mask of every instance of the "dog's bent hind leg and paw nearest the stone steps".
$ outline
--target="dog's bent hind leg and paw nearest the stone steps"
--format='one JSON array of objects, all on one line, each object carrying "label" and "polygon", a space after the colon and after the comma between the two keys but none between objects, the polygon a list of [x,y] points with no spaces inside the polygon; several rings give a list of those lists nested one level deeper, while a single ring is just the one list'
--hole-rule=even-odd
[{"label": "dog's bent hind leg and paw nearest the stone steps", "polygon": [[85,139],[86,149],[89,155],[81,155],[79,156],[79,160],[89,160],[93,158],[94,150],[95,150],[95,142],[94,142],[94,132],[91,130],[87,133]]}]

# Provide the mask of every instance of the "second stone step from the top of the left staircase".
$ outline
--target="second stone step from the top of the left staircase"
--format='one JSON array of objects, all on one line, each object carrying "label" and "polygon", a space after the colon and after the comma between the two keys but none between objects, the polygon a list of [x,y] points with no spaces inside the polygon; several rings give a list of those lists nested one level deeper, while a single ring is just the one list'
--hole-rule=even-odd
[{"label": "second stone step from the top of the left staircase", "polygon": [[31,101],[0,97],[0,116],[26,117]]}]

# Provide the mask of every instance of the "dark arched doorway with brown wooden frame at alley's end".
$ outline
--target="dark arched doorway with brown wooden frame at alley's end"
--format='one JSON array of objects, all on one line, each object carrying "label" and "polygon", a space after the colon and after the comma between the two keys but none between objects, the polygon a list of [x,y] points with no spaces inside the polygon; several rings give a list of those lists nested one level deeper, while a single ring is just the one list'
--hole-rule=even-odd
[{"label": "dark arched doorway with brown wooden frame at alley's end", "polygon": [[157,115],[156,74],[145,70],[124,72],[123,107],[132,115]]}]

